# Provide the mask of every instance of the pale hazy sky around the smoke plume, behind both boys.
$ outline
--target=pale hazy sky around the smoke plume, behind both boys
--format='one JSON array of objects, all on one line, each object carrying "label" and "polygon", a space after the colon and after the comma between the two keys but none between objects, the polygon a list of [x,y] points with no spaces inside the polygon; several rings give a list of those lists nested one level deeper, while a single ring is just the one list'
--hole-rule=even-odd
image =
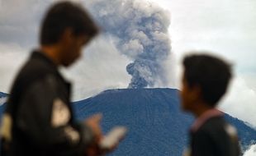
[{"label": "pale hazy sky around the smoke plume, behind both boys", "polygon": [[[45,8],[56,0],[0,0],[0,91],[8,93],[18,68],[37,47]],[[90,1],[79,1],[83,4]],[[99,1],[99,0],[93,0]],[[169,12],[172,51],[166,63],[168,85],[178,88],[181,60],[191,50],[206,50],[234,64],[235,78],[220,108],[256,126],[256,1],[135,0],[141,8]],[[153,2],[153,3],[151,3]],[[85,6],[86,7],[86,6]],[[135,7],[136,8],[136,7]],[[139,7],[138,7],[139,8]],[[130,57],[113,40],[100,35],[64,75],[73,81],[73,99],[85,99],[104,89],[126,88]],[[107,65],[107,66],[106,66]]]}]

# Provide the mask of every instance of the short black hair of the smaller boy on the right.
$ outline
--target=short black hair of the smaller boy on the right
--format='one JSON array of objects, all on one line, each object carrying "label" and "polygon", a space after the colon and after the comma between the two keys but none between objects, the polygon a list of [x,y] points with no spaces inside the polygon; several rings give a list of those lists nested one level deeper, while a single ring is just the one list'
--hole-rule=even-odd
[{"label": "short black hair of the smaller boy on the right", "polygon": [[215,107],[232,77],[230,64],[208,54],[192,54],[183,59],[183,67],[188,86],[199,86],[202,99]]}]

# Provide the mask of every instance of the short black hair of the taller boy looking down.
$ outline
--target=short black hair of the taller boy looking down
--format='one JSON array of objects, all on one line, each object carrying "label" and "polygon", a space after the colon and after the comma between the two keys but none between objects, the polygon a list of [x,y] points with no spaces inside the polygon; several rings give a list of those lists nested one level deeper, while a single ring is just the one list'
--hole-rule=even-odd
[{"label": "short black hair of the taller boy looking down", "polygon": [[83,7],[73,2],[57,2],[41,23],[40,44],[56,44],[67,28],[71,28],[74,35],[85,34],[89,38],[98,33],[97,25]]}]

